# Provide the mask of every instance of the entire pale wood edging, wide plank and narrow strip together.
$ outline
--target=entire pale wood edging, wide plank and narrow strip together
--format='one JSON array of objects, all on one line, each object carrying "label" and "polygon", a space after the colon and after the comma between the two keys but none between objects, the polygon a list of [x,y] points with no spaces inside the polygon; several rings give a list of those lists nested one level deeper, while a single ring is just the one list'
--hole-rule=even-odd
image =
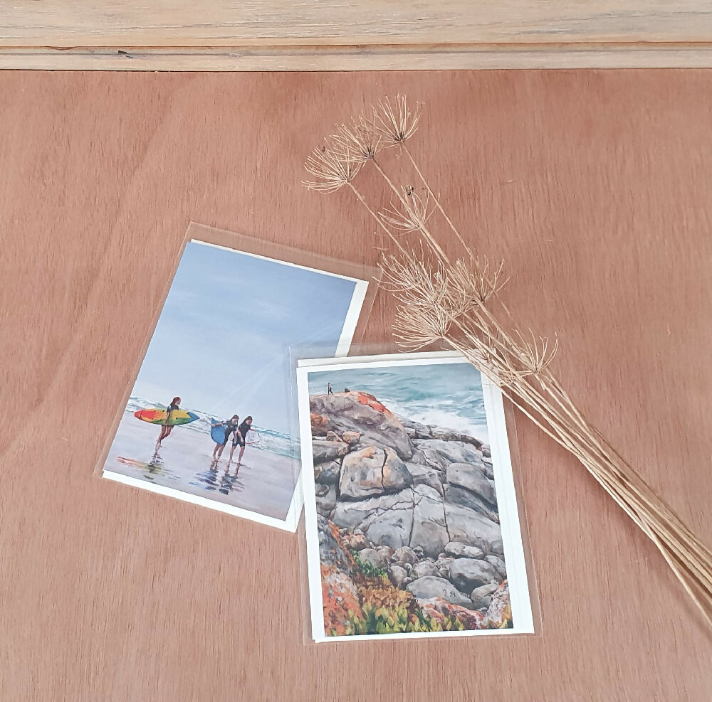
[{"label": "entire pale wood edging, wide plank and narrow strip together", "polygon": [[0,1],[0,68],[712,66],[701,0]]}]

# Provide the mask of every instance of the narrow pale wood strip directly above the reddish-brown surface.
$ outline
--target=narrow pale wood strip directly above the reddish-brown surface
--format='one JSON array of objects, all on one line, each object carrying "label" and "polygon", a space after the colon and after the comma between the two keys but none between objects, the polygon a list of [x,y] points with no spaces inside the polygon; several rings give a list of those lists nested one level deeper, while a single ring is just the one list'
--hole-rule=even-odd
[{"label": "narrow pale wood strip directly above the reddish-brown surface", "polygon": [[2,48],[1,69],[163,71],[712,68],[712,43]]}]

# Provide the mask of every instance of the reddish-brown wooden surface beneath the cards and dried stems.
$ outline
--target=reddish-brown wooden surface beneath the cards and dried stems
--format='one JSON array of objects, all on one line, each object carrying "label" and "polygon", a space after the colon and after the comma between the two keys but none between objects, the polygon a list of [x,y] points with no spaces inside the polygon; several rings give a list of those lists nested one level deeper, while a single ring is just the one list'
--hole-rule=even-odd
[{"label": "reddish-brown wooden surface beneath the cards and dried stems", "polygon": [[[93,470],[190,220],[376,262],[365,213],[305,191],[302,164],[400,91],[426,102],[412,144],[447,208],[506,257],[508,304],[712,543],[711,90],[693,70],[0,74],[0,698],[708,700],[712,632],[521,415],[540,637],[305,644],[298,538]],[[391,313],[379,293],[367,341]]]}]

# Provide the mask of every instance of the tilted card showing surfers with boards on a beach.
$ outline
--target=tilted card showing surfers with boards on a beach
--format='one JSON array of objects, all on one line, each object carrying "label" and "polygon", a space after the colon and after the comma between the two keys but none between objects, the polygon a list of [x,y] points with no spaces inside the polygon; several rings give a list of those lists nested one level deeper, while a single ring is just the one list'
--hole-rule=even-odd
[{"label": "tilted card showing surfers with boards on a beach", "polygon": [[289,347],[346,353],[367,285],[187,243],[103,475],[294,531]]}]

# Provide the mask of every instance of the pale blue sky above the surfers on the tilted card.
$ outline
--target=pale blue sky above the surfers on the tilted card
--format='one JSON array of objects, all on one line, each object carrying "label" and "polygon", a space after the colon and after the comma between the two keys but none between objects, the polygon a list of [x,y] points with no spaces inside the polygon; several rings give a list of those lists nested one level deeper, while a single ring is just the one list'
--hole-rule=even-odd
[{"label": "pale blue sky above the surfers on the tilted card", "polygon": [[290,431],[288,347],[334,353],[355,282],[188,243],[132,395]]}]

